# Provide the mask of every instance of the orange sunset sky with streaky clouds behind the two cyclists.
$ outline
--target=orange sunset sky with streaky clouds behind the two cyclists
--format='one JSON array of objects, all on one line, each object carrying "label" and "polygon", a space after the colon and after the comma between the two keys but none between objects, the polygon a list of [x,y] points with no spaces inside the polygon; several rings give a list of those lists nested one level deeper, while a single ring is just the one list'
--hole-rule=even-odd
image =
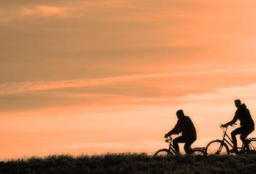
[{"label": "orange sunset sky with streaky clouds behind the two cyclists", "polygon": [[236,98],[255,118],[255,7],[1,1],[0,158],[152,153],[177,109],[196,124],[194,146],[206,146]]}]

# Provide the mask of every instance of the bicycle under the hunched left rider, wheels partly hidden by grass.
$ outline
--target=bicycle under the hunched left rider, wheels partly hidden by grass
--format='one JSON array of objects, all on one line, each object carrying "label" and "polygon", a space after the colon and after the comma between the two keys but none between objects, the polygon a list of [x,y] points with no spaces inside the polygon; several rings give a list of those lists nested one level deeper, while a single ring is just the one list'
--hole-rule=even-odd
[{"label": "bicycle under the hunched left rider, wheels partly hidden by grass", "polygon": [[[162,148],[159,151],[156,151],[154,153],[153,157],[156,156],[174,156],[176,155],[176,151],[174,149],[174,144],[173,144],[173,138],[169,136],[168,138],[165,139],[166,143],[169,143],[169,148]],[[194,156],[205,156],[206,155],[206,148],[191,148],[193,151],[192,155]]]}]

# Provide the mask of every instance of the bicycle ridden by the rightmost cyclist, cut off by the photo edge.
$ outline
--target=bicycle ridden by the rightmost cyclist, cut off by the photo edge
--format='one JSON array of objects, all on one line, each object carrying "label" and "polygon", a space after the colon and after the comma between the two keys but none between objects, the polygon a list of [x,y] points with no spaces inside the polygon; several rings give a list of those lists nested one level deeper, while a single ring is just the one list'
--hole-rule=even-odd
[{"label": "bicycle ridden by the rightmost cyclist, cut off by the photo edge", "polygon": [[[216,139],[214,141],[210,141],[206,146],[206,154],[214,154],[214,155],[229,155],[230,149],[228,146],[234,148],[233,141],[228,136],[228,126],[221,127],[223,129],[223,139]],[[238,153],[256,153],[256,138],[246,138],[245,144],[242,143],[241,147],[238,147]]]}]

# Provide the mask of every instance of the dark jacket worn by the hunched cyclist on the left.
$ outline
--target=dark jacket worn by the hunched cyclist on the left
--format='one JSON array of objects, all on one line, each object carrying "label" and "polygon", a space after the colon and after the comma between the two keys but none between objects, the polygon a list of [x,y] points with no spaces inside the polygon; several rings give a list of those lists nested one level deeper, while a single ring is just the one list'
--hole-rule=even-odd
[{"label": "dark jacket worn by the hunched cyclist on the left", "polygon": [[174,126],[174,129],[169,131],[168,134],[178,134],[180,132],[182,132],[182,136],[187,138],[196,138],[196,128],[188,116],[182,116],[179,118],[176,126]]}]

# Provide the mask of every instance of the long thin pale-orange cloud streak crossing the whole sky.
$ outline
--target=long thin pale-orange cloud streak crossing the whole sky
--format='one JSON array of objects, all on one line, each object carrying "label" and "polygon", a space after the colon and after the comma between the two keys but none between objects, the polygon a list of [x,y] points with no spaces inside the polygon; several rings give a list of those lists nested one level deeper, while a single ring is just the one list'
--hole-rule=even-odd
[{"label": "long thin pale-orange cloud streak crossing the whole sky", "polygon": [[21,82],[21,83],[6,83],[0,85],[0,94],[13,94],[18,92],[30,92],[48,89],[63,89],[70,87],[87,87],[97,85],[109,85],[115,82],[129,82],[134,80],[157,79],[164,77],[189,76],[189,75],[210,75],[223,72],[255,72],[251,69],[221,69],[221,70],[206,70],[193,72],[173,72],[161,74],[144,74],[144,75],[124,75],[118,77],[106,77],[100,79],[79,79],[79,80],[57,80],[49,82]]}]

